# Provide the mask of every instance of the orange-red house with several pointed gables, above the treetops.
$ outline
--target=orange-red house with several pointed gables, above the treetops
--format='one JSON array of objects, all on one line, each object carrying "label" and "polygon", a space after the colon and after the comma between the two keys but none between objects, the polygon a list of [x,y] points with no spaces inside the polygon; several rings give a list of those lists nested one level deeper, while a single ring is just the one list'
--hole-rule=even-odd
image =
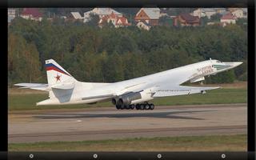
[{"label": "orange-red house with several pointed gables, above the treetops", "polygon": [[127,18],[125,18],[123,15],[120,17],[117,14],[114,14],[112,12],[110,15],[103,16],[100,18],[98,22],[98,26],[102,27],[106,23],[112,23],[115,28],[118,28],[120,26],[130,26],[131,24],[128,22]]}]

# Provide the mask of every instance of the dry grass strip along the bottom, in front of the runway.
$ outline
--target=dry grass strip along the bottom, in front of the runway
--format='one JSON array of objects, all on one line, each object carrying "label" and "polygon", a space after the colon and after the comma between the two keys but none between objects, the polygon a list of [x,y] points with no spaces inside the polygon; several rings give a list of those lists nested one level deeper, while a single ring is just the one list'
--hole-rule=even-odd
[{"label": "dry grass strip along the bottom, in front of the runway", "polygon": [[9,144],[9,151],[246,151],[246,135]]}]

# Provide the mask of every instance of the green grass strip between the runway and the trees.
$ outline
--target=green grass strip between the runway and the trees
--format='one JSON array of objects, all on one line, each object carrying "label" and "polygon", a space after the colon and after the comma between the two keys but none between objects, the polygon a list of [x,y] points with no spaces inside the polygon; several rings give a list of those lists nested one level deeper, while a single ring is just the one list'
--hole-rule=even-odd
[{"label": "green grass strip between the runway and the trees", "polygon": [[[44,109],[65,109],[113,106],[110,102],[103,102],[94,105],[68,105],[68,106],[36,106],[48,98],[48,94],[8,94],[8,110],[44,110]],[[152,102],[156,106],[166,105],[188,105],[188,104],[224,104],[224,103],[246,103],[246,88],[221,88],[210,90],[206,94],[191,94],[167,98],[156,98]]]}]

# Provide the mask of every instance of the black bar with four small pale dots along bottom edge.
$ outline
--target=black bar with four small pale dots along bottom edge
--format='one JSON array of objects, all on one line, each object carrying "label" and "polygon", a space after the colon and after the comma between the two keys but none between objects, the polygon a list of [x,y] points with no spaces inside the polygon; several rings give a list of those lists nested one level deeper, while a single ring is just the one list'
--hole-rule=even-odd
[{"label": "black bar with four small pale dots along bottom edge", "polygon": [[1,152],[0,159],[190,159],[243,160],[254,159],[254,152]]}]

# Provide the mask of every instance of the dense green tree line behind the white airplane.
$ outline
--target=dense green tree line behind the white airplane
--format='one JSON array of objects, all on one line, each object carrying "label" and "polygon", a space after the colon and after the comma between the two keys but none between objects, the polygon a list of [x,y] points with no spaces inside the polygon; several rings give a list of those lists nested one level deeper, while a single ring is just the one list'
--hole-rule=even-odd
[{"label": "dense green tree line behind the white airplane", "polygon": [[116,82],[209,58],[244,63],[206,82],[246,81],[247,31],[238,25],[101,29],[61,19],[15,18],[8,27],[8,84],[46,82],[44,64],[50,58],[84,82]]}]

